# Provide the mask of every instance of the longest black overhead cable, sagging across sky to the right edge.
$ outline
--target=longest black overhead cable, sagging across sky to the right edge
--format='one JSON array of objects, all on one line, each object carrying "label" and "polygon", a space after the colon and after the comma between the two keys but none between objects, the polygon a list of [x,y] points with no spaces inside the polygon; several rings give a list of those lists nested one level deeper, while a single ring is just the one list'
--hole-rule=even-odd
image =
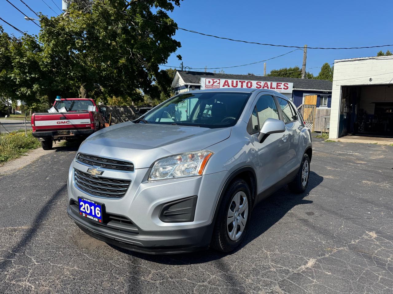
[{"label": "longest black overhead cable, sagging across sky to the right edge", "polygon": [[[264,43],[259,43],[259,42],[249,42],[249,41],[244,41],[244,40],[235,40],[235,39],[231,39],[231,38],[215,36],[215,35],[212,35],[212,34],[205,34],[205,33],[201,33],[201,32],[198,32],[198,31],[193,31],[193,30],[185,29],[185,28],[183,28],[183,27],[178,27],[178,26],[175,26],[175,25],[169,25],[169,24],[164,24],[164,23],[162,23],[162,22],[157,22],[157,21],[155,21],[155,20],[149,20],[149,19],[147,19],[147,18],[143,18],[143,17],[140,17],[140,16],[132,15],[132,14],[129,14],[129,13],[125,13],[125,12],[123,12],[123,11],[119,11],[119,10],[116,10],[116,9],[113,9],[113,8],[110,8],[110,7],[106,7],[106,6],[103,6],[103,5],[94,3],[94,2],[87,1],[87,0],[83,0],[83,1],[84,1],[84,2],[88,2],[88,3],[90,3],[90,4],[93,4],[93,5],[96,5],[96,6],[99,6],[99,7],[103,7],[103,8],[108,9],[108,10],[116,11],[116,12],[118,12],[118,13],[121,13],[121,14],[124,14],[124,15],[127,15],[127,16],[132,16],[132,17],[134,17],[134,18],[139,18],[139,19],[141,19],[141,20],[146,20],[146,21],[148,21],[148,22],[153,22],[153,23],[155,23],[155,24],[165,25],[165,26],[167,26],[167,27],[173,27],[173,28],[175,28],[175,29],[180,29],[180,30],[182,30],[182,31],[186,31],[186,32],[189,32],[189,33],[200,34],[200,35],[202,35],[202,36],[208,36],[208,37],[218,38],[218,39],[222,39],[222,40],[229,40],[229,41],[233,41],[233,42],[241,42],[241,43],[247,43],[247,44],[256,44],[256,45],[264,45],[264,46],[274,46],[274,47],[286,47],[286,48],[299,48],[299,49],[303,49],[303,46],[264,44]],[[308,49],[365,49],[365,48],[380,48],[380,47],[387,47],[387,46],[393,46],[393,44],[391,44],[391,45],[364,46],[364,47],[339,47],[339,48],[334,48],[334,47],[307,47],[307,48],[308,48]]]}]

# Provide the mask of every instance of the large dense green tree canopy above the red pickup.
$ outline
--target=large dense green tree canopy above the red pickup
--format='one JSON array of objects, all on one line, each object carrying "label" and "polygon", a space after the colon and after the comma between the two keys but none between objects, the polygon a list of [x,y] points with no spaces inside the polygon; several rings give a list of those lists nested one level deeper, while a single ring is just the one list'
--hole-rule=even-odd
[{"label": "large dense green tree canopy above the red pickup", "polygon": [[0,27],[0,94],[28,105],[78,94],[141,100],[138,91],[160,99],[168,73],[158,65],[180,47],[167,14],[174,5],[180,0],[75,0],[64,17],[40,15],[43,45]]}]

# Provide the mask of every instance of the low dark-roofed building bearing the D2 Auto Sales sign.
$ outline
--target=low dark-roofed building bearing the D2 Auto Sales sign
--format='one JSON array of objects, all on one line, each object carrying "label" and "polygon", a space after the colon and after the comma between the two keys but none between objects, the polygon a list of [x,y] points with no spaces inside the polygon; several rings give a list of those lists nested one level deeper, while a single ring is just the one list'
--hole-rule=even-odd
[{"label": "low dark-roofed building bearing the D2 Auto Sales sign", "polygon": [[305,96],[317,95],[318,108],[330,108],[332,82],[275,76],[252,76],[249,74],[204,73],[197,71],[176,71],[172,87],[175,94],[200,89],[244,87],[272,89],[290,98],[296,106],[304,102]]}]

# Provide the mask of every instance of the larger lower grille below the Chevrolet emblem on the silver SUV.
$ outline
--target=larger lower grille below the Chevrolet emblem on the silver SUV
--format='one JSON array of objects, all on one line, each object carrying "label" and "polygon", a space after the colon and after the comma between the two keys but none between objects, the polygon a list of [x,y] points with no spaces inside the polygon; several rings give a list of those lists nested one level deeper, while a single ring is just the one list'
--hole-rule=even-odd
[{"label": "larger lower grille below the Chevrolet emblem on the silver SUV", "polygon": [[131,180],[95,177],[77,169],[74,169],[74,175],[75,185],[93,196],[121,198],[127,192],[131,183]]}]

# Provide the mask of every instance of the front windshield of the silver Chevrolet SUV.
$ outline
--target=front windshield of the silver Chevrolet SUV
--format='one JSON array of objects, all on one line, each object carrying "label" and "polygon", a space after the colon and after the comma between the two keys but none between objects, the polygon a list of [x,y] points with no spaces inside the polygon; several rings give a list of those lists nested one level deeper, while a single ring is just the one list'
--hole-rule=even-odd
[{"label": "front windshield of the silver Chevrolet SUV", "polygon": [[148,113],[141,123],[232,127],[251,93],[193,92],[176,96]]}]

